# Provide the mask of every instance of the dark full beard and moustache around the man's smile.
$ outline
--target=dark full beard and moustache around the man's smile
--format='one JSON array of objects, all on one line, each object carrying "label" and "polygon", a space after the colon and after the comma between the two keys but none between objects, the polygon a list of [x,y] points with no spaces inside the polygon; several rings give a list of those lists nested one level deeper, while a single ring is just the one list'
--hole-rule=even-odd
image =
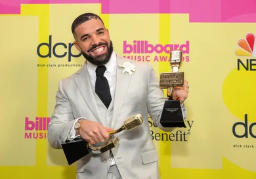
[{"label": "dark full beard and moustache around the man's smile", "polygon": [[95,64],[96,66],[103,66],[104,64],[108,63],[110,61],[110,57],[113,52],[113,44],[112,41],[110,41],[110,47],[108,47],[108,43],[99,43],[98,45],[93,45],[89,51],[95,49],[96,47],[100,47],[101,45],[106,45],[107,51],[104,54],[100,54],[98,56],[92,56],[91,54],[86,54],[85,52],[81,51],[83,54],[83,57],[91,62],[92,64]]}]

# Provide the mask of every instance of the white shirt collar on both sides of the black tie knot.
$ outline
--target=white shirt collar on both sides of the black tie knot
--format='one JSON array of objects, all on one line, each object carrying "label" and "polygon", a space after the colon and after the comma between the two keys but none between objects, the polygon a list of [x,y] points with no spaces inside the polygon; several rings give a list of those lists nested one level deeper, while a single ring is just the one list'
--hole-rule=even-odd
[{"label": "white shirt collar on both sides of the black tie knot", "polygon": [[[106,66],[106,71],[108,71],[109,73],[113,73],[114,72],[114,69],[116,67],[116,52],[112,52],[111,56],[110,56],[110,61],[105,64]],[[90,77],[96,77],[96,73],[95,73],[95,70],[97,68],[97,66],[95,64],[92,64],[91,62],[89,61],[86,61],[86,64],[87,64],[87,69],[89,71],[89,75]]]}]

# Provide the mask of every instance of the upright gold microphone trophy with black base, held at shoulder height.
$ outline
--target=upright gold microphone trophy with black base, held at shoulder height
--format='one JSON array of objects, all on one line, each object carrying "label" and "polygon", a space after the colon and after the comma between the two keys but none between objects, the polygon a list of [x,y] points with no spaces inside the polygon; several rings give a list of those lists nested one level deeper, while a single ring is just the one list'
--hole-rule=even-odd
[{"label": "upright gold microphone trophy with black base, held at shoulder height", "polygon": [[170,54],[172,72],[160,73],[160,89],[167,90],[167,98],[163,106],[160,123],[163,127],[186,127],[178,96],[173,95],[175,87],[183,87],[184,72],[179,72],[182,66],[181,50],[173,50]]}]

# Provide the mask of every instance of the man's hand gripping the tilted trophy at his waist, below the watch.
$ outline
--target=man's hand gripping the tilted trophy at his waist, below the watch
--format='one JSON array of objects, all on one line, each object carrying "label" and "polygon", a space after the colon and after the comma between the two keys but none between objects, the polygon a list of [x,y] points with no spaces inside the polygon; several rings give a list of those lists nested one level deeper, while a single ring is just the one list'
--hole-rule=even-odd
[{"label": "man's hand gripping the tilted trophy at his waist, below the watch", "polygon": [[91,144],[96,144],[98,142],[103,142],[109,138],[108,132],[112,131],[108,127],[104,127],[100,123],[94,121],[83,120],[81,121],[81,126],[79,127],[79,134],[83,139]]}]

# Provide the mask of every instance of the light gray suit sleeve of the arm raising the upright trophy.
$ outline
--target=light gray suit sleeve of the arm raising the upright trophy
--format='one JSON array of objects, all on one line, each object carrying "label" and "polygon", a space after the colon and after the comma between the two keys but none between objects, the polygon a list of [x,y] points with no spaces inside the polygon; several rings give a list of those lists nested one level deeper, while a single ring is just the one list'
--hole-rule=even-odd
[{"label": "light gray suit sleeve of the arm raising the upright trophy", "polygon": [[[160,89],[160,84],[158,77],[156,76],[156,72],[152,66],[148,64],[148,113],[157,127],[163,131],[171,132],[175,130],[175,128],[165,128],[160,124],[161,113],[163,111],[165,100],[167,100],[167,98],[165,97],[163,90]],[[184,106],[182,107],[182,110],[184,111]],[[185,115],[186,113],[183,113],[184,118],[186,117]]]}]

